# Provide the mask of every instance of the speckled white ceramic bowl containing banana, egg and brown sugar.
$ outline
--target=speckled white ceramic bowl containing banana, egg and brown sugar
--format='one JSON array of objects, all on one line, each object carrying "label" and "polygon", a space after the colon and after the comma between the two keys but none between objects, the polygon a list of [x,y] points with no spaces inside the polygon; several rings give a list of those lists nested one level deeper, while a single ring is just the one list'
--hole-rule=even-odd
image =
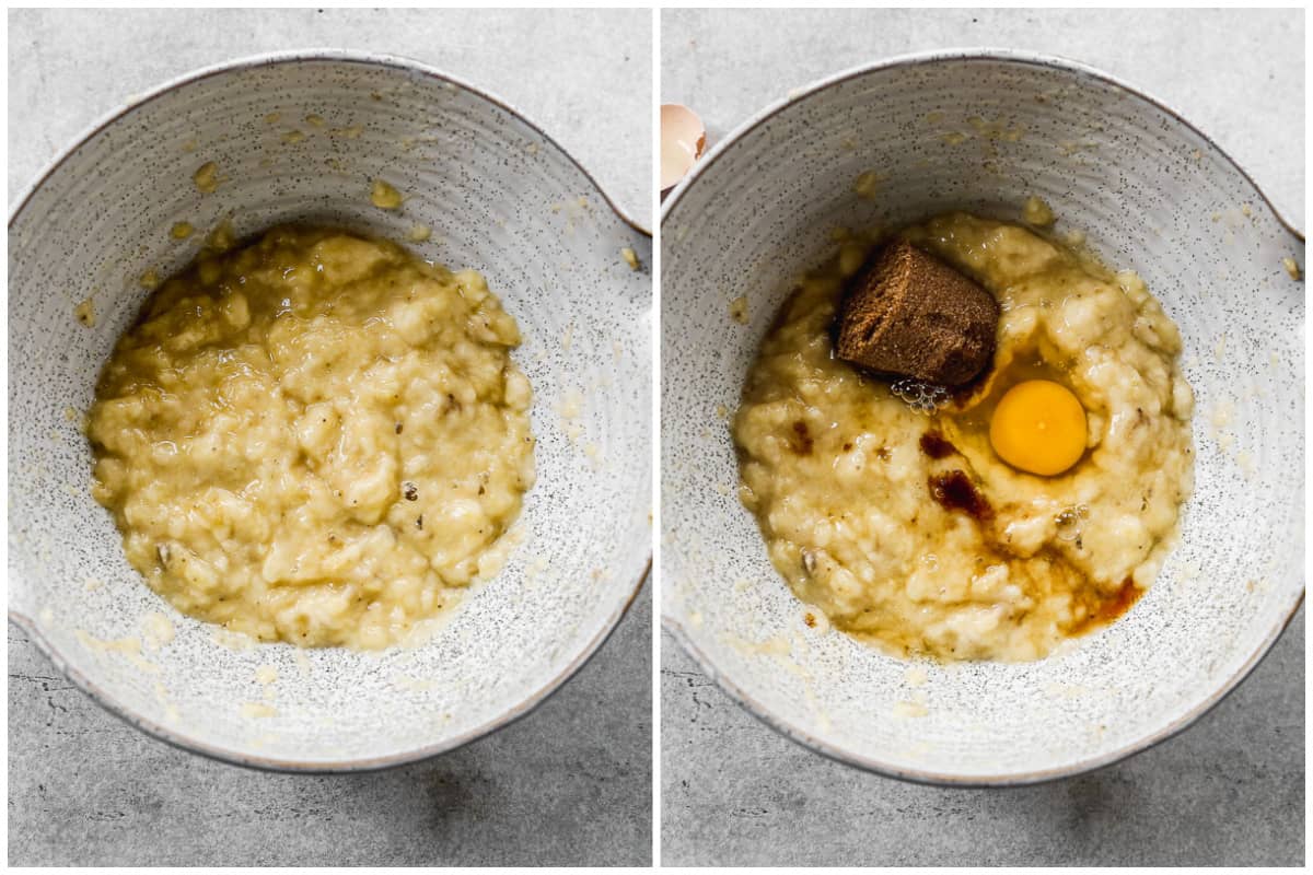
[{"label": "speckled white ceramic bowl containing banana, egg and brown sugar", "polygon": [[[874,199],[853,193],[867,171],[885,180]],[[914,665],[807,628],[738,502],[723,409],[792,278],[832,252],[832,227],[956,207],[1016,219],[1032,194],[1060,232],[1083,230],[1107,262],[1137,270],[1180,325],[1197,395],[1180,546],[1124,618],[1039,662]],[[926,782],[1067,775],[1188,725],[1297,609],[1304,285],[1283,260],[1302,270],[1302,236],[1161,102],[1012,52],[842,73],[702,159],[664,206],[662,241],[664,623],[786,736]],[[730,319],[739,295],[746,325]]]}]

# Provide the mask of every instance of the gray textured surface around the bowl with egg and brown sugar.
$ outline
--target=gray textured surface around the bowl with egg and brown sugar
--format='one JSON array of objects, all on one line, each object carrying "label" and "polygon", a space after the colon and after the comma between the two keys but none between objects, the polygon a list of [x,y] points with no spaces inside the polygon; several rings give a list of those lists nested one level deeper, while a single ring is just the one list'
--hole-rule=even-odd
[{"label": "gray textured surface around the bowl with egg and brown sugar", "polygon": [[[989,46],[1065,55],[1179,109],[1304,227],[1302,12],[668,10],[662,101],[716,140],[789,89],[884,56]],[[811,754],[662,638],[666,865],[1299,865],[1304,613],[1184,735],[1015,790],[906,784]]]}]

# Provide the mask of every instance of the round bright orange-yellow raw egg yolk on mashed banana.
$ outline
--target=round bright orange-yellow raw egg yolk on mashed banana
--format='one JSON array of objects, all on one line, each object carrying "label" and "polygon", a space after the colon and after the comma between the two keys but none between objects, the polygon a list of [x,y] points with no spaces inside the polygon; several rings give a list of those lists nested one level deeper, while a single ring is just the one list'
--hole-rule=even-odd
[{"label": "round bright orange-yellow raw egg yolk on mashed banana", "polygon": [[1085,453],[1085,408],[1065,386],[1025,380],[1007,390],[994,408],[989,442],[1014,468],[1053,476]]}]

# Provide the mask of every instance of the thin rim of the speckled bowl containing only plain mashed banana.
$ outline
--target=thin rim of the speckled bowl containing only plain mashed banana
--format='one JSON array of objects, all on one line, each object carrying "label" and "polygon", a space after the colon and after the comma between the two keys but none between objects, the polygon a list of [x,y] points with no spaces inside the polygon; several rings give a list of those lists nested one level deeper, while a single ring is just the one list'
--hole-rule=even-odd
[{"label": "thin rim of the speckled bowl containing only plain mashed banana", "polygon": [[[116,109],[102,114],[88,127],[85,127],[70,144],[60,148],[55,156],[42,167],[41,172],[37,173],[33,182],[30,182],[18,198],[14,201],[16,206],[12,207],[9,213],[9,230],[13,230],[14,222],[18,220],[24,209],[32,201],[32,197],[41,189],[42,185],[56,172],[63,164],[70,159],[70,156],[81,148],[88,140],[100,134],[102,130],[119,121],[121,118],[135,112],[140,106],[150,104],[169,92],[173,92],[185,85],[190,85],[214,76],[219,76],[228,72],[235,72],[240,70],[252,70],[257,67],[274,67],[286,63],[301,63],[301,62],[340,62],[340,63],[356,63],[369,67],[386,67],[390,70],[420,73],[429,79],[437,79],[454,85],[456,88],[463,89],[467,93],[482,98],[483,101],[492,104],[498,109],[511,114],[521,123],[527,125],[534,134],[541,136],[546,143],[555,147],[574,168],[583,174],[583,177],[592,186],[593,192],[600,197],[607,206],[616,214],[616,216],[629,226],[634,232],[651,239],[653,234],[645,228],[641,223],[632,219],[614,201],[611,195],[601,188],[597,180],[588,173],[588,171],[571,155],[561,143],[553,139],[546,131],[542,130],[537,123],[528,118],[524,113],[516,109],[509,102],[491,94],[490,92],[470,84],[469,81],[446,73],[436,67],[425,64],[424,62],[415,60],[412,58],[406,58],[402,55],[391,55],[385,52],[373,51],[357,51],[347,49],[293,49],[293,50],[280,50],[260,52],[256,55],[249,55],[244,58],[236,58],[232,60],[219,62],[215,64],[207,64],[177,76],[165,80],[163,84],[156,85],[142,94],[137,94],[133,98],[125,101]],[[530,693],[528,697],[513,703],[511,707],[504,708],[496,716],[488,719],[481,725],[469,729],[458,736],[450,739],[419,746],[412,750],[403,750],[400,753],[393,753],[382,757],[365,757],[353,760],[323,760],[323,761],[299,761],[299,760],[284,760],[272,757],[252,756],[249,753],[243,753],[240,750],[231,750],[221,745],[214,745],[192,739],[181,732],[172,728],[160,725],[154,720],[148,720],[139,714],[131,711],[126,704],[117,701],[112,693],[106,689],[100,687],[92,682],[85,674],[74,668],[67,659],[53,645],[50,639],[41,631],[39,624],[29,615],[21,610],[8,605],[8,618],[9,622],[21,628],[29,639],[37,645],[46,659],[49,659],[54,666],[64,674],[74,685],[85,693],[96,704],[101,706],[114,716],[119,718],[129,725],[140,729],[148,736],[152,736],[165,744],[169,744],[181,750],[189,753],[197,753],[210,760],[217,760],[219,762],[227,762],[239,766],[247,766],[252,769],[260,769],[265,771],[282,771],[282,773],[302,773],[302,774],[341,774],[341,773],[362,773],[362,771],[378,771],[382,769],[391,769],[395,766],[407,765],[411,762],[419,762],[421,760],[428,760],[442,753],[448,753],[461,748],[466,744],[477,741],[483,736],[491,735],[498,729],[502,729],[516,720],[527,716],[534,711],[538,706],[546,702],[557,690],[559,690],[566,681],[574,677],[596,653],[601,649],[601,645],[614,634],[620,626],[620,621],[625,617],[629,609],[633,606],[638,594],[642,592],[643,584],[653,567],[653,552],[651,544],[649,543],[647,558],[643,561],[642,571],[634,579],[634,582],[628,588],[617,588],[617,594],[620,598],[611,613],[605,617],[605,621],[599,626],[597,631],[588,639],[584,645],[575,653],[575,656],[562,668],[551,680],[545,682],[541,687]]]}]

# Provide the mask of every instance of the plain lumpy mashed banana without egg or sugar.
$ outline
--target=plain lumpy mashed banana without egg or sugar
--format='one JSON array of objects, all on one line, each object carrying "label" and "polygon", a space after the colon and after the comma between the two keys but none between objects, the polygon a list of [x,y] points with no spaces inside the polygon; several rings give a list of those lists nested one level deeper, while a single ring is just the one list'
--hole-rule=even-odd
[{"label": "plain lumpy mashed banana without egg or sugar", "polygon": [[533,484],[519,342],[478,273],[391,243],[280,227],[209,251],[101,374],[93,495],[180,611],[389,645],[495,572]]}]

